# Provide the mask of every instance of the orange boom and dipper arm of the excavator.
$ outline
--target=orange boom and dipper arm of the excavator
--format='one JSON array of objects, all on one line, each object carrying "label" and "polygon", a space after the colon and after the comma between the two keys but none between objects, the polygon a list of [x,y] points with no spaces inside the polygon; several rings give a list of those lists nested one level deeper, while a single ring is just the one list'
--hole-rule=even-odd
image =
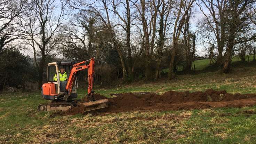
[{"label": "orange boom and dipper arm of the excavator", "polygon": [[[90,62],[90,63],[86,64],[87,62]],[[77,72],[84,69],[88,69],[88,95],[91,96],[93,94],[94,58],[91,58],[87,61],[83,61],[73,65],[70,71],[69,79],[67,81],[65,97],[69,97],[72,93],[72,88],[74,86],[75,79],[77,77]]]}]

